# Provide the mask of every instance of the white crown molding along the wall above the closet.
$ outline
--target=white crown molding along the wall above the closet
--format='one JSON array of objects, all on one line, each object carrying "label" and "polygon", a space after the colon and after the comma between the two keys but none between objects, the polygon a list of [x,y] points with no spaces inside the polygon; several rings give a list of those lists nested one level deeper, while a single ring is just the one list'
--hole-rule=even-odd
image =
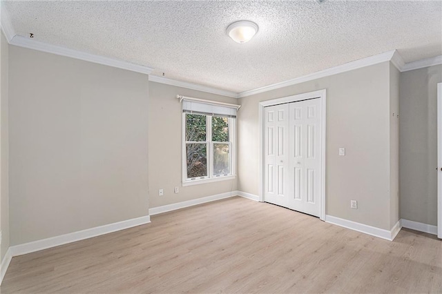
[{"label": "white crown molding along the wall above the closet", "polygon": [[238,97],[240,97],[240,98],[247,97],[250,95],[259,94],[259,93],[267,92],[270,90],[276,90],[279,88],[284,88],[287,86],[292,86],[292,85],[304,83],[306,81],[312,81],[314,79],[320,79],[322,77],[328,77],[330,75],[336,75],[341,72],[347,72],[349,70],[356,70],[358,68],[363,68],[365,66],[372,66],[377,63],[390,61],[392,59],[393,55],[395,54],[395,52],[396,52],[396,50],[384,52],[384,53],[381,53],[378,55],[374,55],[374,56],[366,57],[363,59],[358,59],[355,61],[344,63],[344,64],[341,64],[340,66],[334,66],[333,68],[327,68],[326,70],[320,70],[318,72],[314,72],[312,74],[305,75],[303,77],[297,77],[295,79],[289,79],[288,81],[282,81],[280,83],[272,84],[269,86],[264,86],[261,88],[256,88],[253,90],[247,90],[244,92],[240,92],[240,93],[238,93]]}]

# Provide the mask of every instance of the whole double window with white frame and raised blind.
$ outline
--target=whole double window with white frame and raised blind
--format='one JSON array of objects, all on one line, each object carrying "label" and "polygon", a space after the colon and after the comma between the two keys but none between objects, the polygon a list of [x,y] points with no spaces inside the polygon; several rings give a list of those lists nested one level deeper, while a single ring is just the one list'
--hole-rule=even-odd
[{"label": "whole double window with white frame and raised blind", "polygon": [[202,111],[206,104],[200,107],[197,104],[189,101],[183,104],[184,186],[235,176],[236,109],[228,110],[230,114],[219,109],[213,113]]}]

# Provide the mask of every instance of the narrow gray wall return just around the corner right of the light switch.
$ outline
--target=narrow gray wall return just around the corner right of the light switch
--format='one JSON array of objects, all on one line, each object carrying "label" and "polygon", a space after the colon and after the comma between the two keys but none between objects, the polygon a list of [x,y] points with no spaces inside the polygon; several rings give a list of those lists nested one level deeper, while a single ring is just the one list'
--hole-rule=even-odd
[{"label": "narrow gray wall return just around the corner right of the light switch", "polygon": [[399,96],[401,73],[390,63],[390,228],[401,218],[399,213]]}]

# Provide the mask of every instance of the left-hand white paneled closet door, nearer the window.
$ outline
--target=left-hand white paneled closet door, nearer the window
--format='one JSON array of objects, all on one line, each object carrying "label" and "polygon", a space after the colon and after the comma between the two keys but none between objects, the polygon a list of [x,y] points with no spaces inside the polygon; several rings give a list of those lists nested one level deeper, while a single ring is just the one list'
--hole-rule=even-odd
[{"label": "left-hand white paneled closet door, nearer the window", "polygon": [[265,202],[289,203],[289,104],[265,108]]}]

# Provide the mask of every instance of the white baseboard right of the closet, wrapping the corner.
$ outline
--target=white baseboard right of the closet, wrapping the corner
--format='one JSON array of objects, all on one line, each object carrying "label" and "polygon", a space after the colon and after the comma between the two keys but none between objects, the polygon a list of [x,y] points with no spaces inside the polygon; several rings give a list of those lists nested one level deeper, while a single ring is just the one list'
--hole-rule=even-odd
[{"label": "white baseboard right of the closet, wrapping the corner", "polygon": [[348,219],[341,219],[332,215],[325,215],[325,222],[328,222],[329,224],[336,224],[337,226],[343,226],[344,228],[349,228],[350,230],[372,235],[374,237],[387,239],[389,241],[392,241],[399,231],[401,231],[400,222],[397,222],[391,231],[384,230],[383,228],[376,228],[374,226],[368,226],[358,222],[352,222]]}]

